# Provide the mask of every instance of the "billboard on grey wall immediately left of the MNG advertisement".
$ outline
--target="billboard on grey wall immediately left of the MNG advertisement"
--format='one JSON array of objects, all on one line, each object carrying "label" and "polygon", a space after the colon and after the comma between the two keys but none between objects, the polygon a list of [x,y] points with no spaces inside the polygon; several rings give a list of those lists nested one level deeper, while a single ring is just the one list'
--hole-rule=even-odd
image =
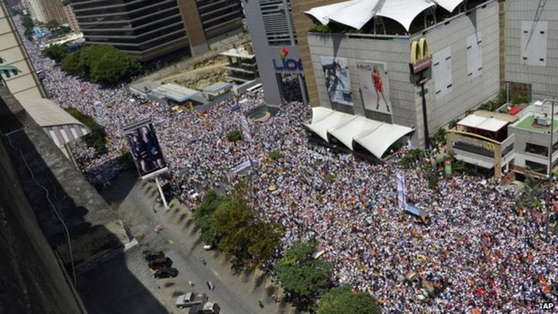
[{"label": "billboard on grey wall immediately left of the MNG advertisement", "polygon": [[321,57],[322,71],[326,78],[326,89],[329,100],[332,103],[341,105],[353,105],[351,93],[351,80],[349,79],[349,69],[347,59]]}]

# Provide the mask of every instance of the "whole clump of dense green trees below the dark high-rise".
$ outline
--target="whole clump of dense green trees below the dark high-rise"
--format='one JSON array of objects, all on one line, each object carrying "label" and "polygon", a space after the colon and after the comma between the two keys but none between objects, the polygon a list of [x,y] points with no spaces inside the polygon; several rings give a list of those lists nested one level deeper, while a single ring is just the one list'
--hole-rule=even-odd
[{"label": "whole clump of dense green trees below the dark high-rise", "polygon": [[[53,50],[56,50],[52,52],[53,57],[59,59],[63,54],[61,48],[56,47]],[[128,81],[141,70],[137,60],[110,45],[86,46],[67,54],[61,60],[61,68],[70,75],[83,77],[98,84]]]}]

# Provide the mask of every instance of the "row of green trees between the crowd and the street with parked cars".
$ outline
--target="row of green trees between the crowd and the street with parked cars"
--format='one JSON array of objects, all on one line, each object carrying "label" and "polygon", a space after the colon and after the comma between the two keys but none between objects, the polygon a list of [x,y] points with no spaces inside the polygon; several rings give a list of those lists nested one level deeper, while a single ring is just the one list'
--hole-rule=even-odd
[{"label": "row of green trees between the crowd and the street with parked cars", "polygon": [[[241,181],[230,196],[209,190],[194,211],[194,222],[203,241],[232,257],[236,269],[264,265],[277,255],[283,234],[281,225],[262,220],[250,209],[246,189]],[[382,313],[370,294],[357,294],[348,285],[332,287],[333,267],[312,257],[316,247],[315,242],[298,242],[278,261],[276,279],[289,295],[289,301],[303,311],[318,314]]]}]

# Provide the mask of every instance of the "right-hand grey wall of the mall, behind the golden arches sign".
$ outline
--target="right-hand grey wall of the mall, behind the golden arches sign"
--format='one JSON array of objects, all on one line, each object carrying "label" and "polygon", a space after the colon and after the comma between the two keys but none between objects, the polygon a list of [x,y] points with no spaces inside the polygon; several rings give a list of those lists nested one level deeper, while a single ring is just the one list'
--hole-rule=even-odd
[{"label": "right-hand grey wall of the mall, behind the golden arches sign", "polygon": [[[432,70],[432,80],[426,84],[428,127],[430,134],[448,121],[459,117],[465,111],[495,97],[499,92],[499,22],[498,3],[492,1],[485,7],[478,7],[469,15],[462,14],[453,17],[449,24],[438,24],[428,29],[424,35],[428,39],[430,52],[436,54],[449,47],[451,50],[452,88],[444,96],[435,94],[435,77]],[[468,76],[467,37],[478,32],[482,36],[482,67],[478,76]],[[421,34],[414,36],[414,40]],[[416,89],[420,94],[420,89]],[[417,107],[421,108],[422,100],[416,98]],[[422,110],[417,110],[419,121],[422,121]]]}]

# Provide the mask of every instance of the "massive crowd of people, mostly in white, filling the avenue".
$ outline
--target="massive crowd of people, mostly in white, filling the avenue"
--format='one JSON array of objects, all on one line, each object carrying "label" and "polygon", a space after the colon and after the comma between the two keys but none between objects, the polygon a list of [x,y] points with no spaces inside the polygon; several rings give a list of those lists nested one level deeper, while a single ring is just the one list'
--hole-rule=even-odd
[{"label": "massive crowd of people, mostly in white, filling the avenue", "polygon": [[[420,169],[371,165],[310,144],[301,127],[310,109],[298,102],[280,105],[269,121],[250,122],[252,141],[229,142],[225,134],[240,128],[242,114],[265,104],[263,94],[231,97],[204,112],[172,113],[162,103],[135,99],[125,86],[103,88],[70,77],[40,57],[36,43],[23,40],[36,70],[45,73],[50,98],[106,126],[108,154],[75,151],[91,181],[121,171],[123,126],[151,118],[169,163],[167,180],[188,207],[196,206],[188,190],[202,193],[216,183],[230,188],[240,176],[231,168],[250,160],[242,174],[250,205],[285,227],[282,249],[315,239],[326,250],[321,258],[333,264],[335,283],[371,292],[384,313],[538,313],[543,301],[558,303],[550,293],[558,284],[558,241],[541,231],[545,207],[558,200],[556,185],[522,218],[515,209],[518,192],[493,179],[453,177],[432,190]],[[236,104],[241,110],[232,110]],[[282,154],[277,160],[269,158],[275,149]],[[409,202],[427,211],[430,222],[398,208],[397,172],[405,173]],[[412,272],[432,285],[443,282],[444,289],[427,297],[405,280]]]}]

